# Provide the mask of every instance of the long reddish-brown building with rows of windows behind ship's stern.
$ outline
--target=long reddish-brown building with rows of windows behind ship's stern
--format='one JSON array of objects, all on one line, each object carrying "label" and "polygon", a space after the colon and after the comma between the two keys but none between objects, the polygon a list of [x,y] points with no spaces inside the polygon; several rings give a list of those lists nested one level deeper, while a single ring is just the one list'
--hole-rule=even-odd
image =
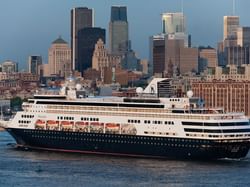
[{"label": "long reddish-brown building with rows of windows behind ship's stern", "polygon": [[194,96],[205,100],[205,107],[223,107],[226,112],[244,112],[250,117],[250,82],[213,80],[192,83]]}]

